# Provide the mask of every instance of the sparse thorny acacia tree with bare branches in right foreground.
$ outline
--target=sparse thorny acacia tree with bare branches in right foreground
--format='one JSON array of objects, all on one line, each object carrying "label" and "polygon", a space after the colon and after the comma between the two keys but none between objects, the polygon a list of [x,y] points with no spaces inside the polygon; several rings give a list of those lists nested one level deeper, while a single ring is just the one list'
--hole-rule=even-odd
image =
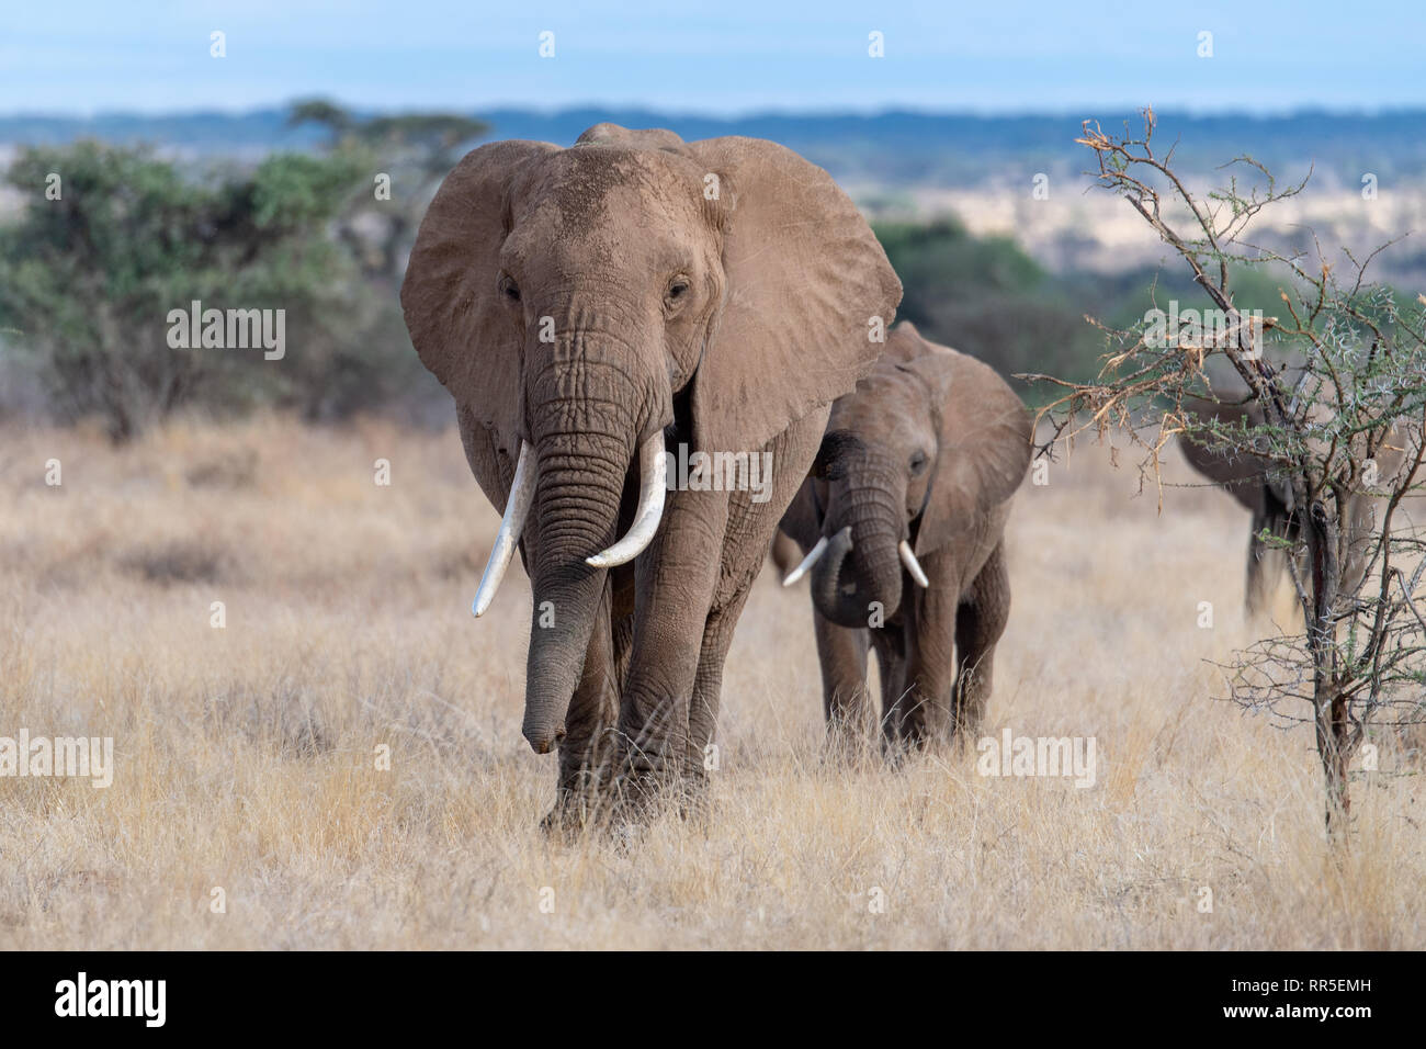
[{"label": "sparse thorny acacia tree with bare branches in right foreground", "polygon": [[[1195,314],[1168,333],[1147,313],[1131,328],[1104,328],[1111,351],[1097,381],[1027,375],[1060,391],[1041,412],[1054,434],[1041,454],[1067,434],[1127,434],[1142,451],[1142,475],[1158,480],[1159,452],[1185,435],[1265,464],[1291,492],[1292,527],[1259,538],[1291,552],[1303,628],[1239,652],[1226,679],[1238,704],[1313,726],[1326,825],[1340,841],[1350,764],[1369,728],[1426,722],[1426,534],[1407,512],[1426,494],[1426,297],[1369,281],[1376,251],[1359,261],[1343,250],[1333,263],[1316,243],[1303,254],[1253,245],[1252,220],[1305,181],[1279,187],[1242,157],[1235,170],[1251,186],[1233,177],[1195,193],[1175,171],[1174,150],[1155,150],[1154,124],[1145,110],[1142,133],[1115,137],[1087,121],[1079,141],[1097,158],[1098,184],[1192,273],[1215,324]],[[1241,270],[1272,274],[1278,315],[1255,317],[1236,301]],[[1261,424],[1228,427],[1201,408],[1221,397],[1208,380],[1215,361]],[[1362,505],[1370,512],[1353,510]]]}]

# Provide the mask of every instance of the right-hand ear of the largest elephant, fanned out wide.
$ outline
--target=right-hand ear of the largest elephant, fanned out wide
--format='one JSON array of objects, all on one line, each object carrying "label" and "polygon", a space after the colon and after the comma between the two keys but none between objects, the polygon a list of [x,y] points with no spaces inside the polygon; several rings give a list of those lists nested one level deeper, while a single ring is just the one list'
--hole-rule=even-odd
[{"label": "right-hand ear of the largest elephant, fanned out wide", "polygon": [[726,298],[693,381],[693,438],[753,451],[856,387],[881,353],[901,281],[826,171],[761,138],[690,151],[717,176]]}]

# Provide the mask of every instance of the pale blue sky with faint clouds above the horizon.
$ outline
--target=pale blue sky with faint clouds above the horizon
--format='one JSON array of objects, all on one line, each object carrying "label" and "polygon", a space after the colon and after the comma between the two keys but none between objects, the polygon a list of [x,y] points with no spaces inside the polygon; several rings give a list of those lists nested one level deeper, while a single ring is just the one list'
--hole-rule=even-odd
[{"label": "pale blue sky with faint clouds above the horizon", "polygon": [[[736,114],[1426,106],[1426,0],[6,0],[0,111],[639,104]],[[1192,10],[1188,10],[1188,9]],[[208,34],[227,34],[227,57]],[[539,34],[555,34],[540,59]],[[868,34],[886,57],[870,59]],[[1214,57],[1201,59],[1199,33]]]}]

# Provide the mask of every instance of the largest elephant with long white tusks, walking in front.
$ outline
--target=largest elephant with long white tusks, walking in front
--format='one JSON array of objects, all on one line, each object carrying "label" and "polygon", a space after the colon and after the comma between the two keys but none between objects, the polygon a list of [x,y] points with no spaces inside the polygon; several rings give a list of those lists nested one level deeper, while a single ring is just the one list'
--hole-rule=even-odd
[{"label": "largest elephant with long white tusks, walking in front", "polygon": [[[530,577],[546,825],[610,794],[640,812],[669,779],[702,798],[733,625],[900,295],[853,203],[774,143],[599,124],[570,148],[482,146],[446,177],[401,301],[503,511],[475,614],[516,548]],[[771,477],[666,492],[679,445],[766,452]]]}]

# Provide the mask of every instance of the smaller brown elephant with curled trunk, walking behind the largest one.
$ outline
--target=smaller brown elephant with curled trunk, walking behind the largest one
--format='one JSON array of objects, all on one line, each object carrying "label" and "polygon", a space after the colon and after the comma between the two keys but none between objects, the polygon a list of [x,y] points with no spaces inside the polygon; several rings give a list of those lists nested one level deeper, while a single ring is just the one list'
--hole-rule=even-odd
[{"label": "smaller brown elephant with curled trunk, walking behind the largest one", "polygon": [[881,669],[893,752],[984,715],[1010,614],[1002,532],[1030,465],[1031,424],[981,361],[910,324],[840,398],[781,529],[807,554],[830,734],[867,721],[867,652]]}]

